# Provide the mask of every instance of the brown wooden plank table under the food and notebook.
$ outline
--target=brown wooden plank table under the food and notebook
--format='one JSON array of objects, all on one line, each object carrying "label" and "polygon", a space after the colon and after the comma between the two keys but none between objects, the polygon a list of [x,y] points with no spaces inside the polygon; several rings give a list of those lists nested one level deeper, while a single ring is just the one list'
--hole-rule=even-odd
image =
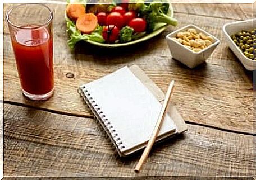
[{"label": "brown wooden plank table under the food and notebook", "polygon": [[[54,11],[54,96],[34,102],[21,94],[15,58],[4,20],[4,176],[252,176],[253,73],[228,48],[227,22],[253,17],[252,4],[173,3],[176,28],[140,45],[100,49],[85,42],[67,46],[65,4]],[[10,4],[4,5],[4,12]],[[193,23],[221,40],[207,63],[195,69],[173,60],[165,36]],[[164,91],[176,80],[172,103],[189,130],[154,147],[139,174],[140,154],[117,157],[77,94],[82,83],[124,65],[137,64]],[[109,86],[111,86],[109,84]],[[132,178],[131,178],[132,179]]]}]

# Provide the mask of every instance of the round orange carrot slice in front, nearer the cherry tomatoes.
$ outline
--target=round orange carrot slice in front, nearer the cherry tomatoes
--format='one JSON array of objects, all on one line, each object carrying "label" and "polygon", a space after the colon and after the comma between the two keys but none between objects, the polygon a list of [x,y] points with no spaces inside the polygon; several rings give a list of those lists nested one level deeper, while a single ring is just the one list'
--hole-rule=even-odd
[{"label": "round orange carrot slice in front, nearer the cherry tomatoes", "polygon": [[76,27],[85,34],[90,34],[97,27],[98,19],[93,13],[86,13],[76,20]]}]

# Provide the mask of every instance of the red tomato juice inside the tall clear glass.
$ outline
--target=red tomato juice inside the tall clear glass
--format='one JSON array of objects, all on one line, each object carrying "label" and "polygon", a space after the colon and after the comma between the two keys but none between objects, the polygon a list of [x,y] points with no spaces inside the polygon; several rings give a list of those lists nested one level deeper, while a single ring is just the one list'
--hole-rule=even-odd
[{"label": "red tomato juice inside the tall clear glass", "polygon": [[47,29],[17,30],[12,46],[22,89],[36,95],[52,91],[53,42]]}]

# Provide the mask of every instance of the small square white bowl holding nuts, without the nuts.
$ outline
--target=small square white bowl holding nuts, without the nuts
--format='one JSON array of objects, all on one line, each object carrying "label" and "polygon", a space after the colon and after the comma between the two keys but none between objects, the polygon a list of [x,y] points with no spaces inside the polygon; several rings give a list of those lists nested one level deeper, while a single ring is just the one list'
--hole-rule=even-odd
[{"label": "small square white bowl holding nuts, without the nuts", "polygon": [[[199,52],[194,52],[193,50],[182,45],[180,42],[177,42],[176,40],[172,39],[172,37],[176,37],[176,34],[178,32],[184,32],[189,28],[194,28],[199,33],[202,32],[207,36],[213,37],[214,43]],[[167,44],[169,46],[172,58],[180,61],[181,63],[185,64],[189,68],[194,68],[197,65],[203,63],[212,54],[213,50],[220,43],[220,40],[218,40],[216,37],[200,29],[195,25],[187,25],[187,26],[181,27],[181,29],[178,29],[168,34],[166,36],[166,39],[167,39]]]}]

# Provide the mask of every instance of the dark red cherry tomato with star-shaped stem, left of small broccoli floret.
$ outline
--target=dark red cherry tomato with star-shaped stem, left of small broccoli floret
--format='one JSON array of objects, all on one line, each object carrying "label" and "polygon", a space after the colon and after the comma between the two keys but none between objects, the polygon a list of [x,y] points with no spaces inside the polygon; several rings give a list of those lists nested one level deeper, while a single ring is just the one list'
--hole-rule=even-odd
[{"label": "dark red cherry tomato with star-shaped stem, left of small broccoli floret", "polygon": [[119,38],[119,30],[115,25],[108,25],[103,28],[102,36],[108,43],[113,43]]}]

